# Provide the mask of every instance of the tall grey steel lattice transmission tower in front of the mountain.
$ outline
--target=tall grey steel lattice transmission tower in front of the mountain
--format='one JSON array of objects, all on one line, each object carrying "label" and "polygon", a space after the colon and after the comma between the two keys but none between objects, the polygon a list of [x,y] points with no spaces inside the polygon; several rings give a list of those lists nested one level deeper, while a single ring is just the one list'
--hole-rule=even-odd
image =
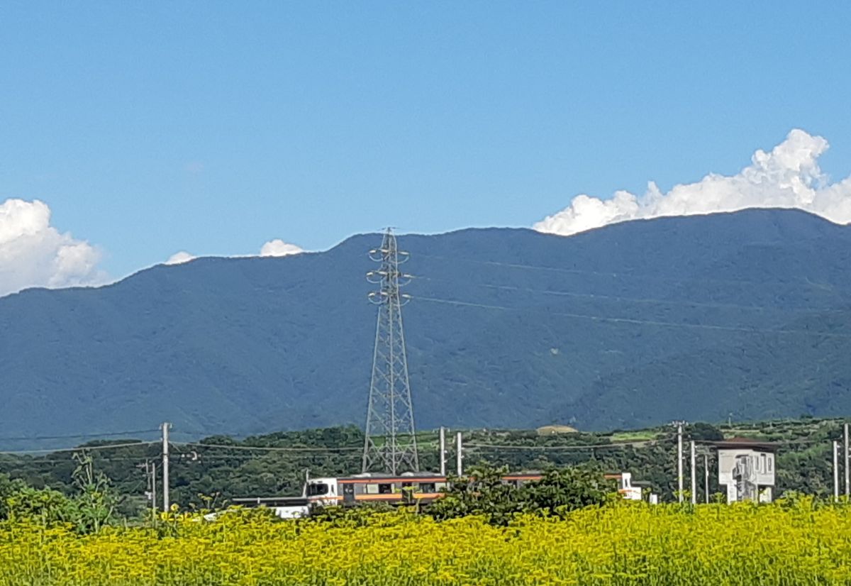
[{"label": "tall grey steel lattice transmission tower in front of the mountain", "polygon": [[410,296],[399,293],[399,287],[410,281],[410,275],[399,270],[399,265],[408,260],[408,253],[398,250],[396,236],[387,228],[381,247],[370,250],[369,257],[380,266],[367,273],[368,281],[378,284],[379,290],[369,294],[369,301],[378,305],[378,322],[369,384],[363,472],[419,471],[402,327],[402,306]]}]

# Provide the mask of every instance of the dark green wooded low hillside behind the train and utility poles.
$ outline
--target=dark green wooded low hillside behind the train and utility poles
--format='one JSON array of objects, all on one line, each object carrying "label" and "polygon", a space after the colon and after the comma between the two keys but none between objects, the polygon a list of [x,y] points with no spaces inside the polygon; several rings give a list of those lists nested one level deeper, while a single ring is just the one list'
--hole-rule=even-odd
[{"label": "dark green wooded low hillside behind the train and utility poles", "polygon": [[[780,443],[777,494],[794,490],[824,497],[831,493],[831,440],[841,437],[841,420],[810,418],[734,423],[732,426],[725,424],[723,432],[728,437],[745,436]],[[631,440],[635,442],[632,445],[615,441],[623,438],[623,432],[540,436],[530,430],[488,429],[466,431],[464,437],[465,443],[469,444],[467,457],[473,461],[505,466],[511,471],[574,469],[588,465],[607,473],[631,472],[633,481],[641,483],[645,491],[660,495],[663,501],[672,500],[677,488],[674,430],[664,426],[630,433],[636,434]],[[717,438],[717,428],[691,423],[686,434]],[[192,458],[182,457],[190,453],[187,448],[173,446],[172,501],[180,503],[185,510],[220,508],[226,506],[231,497],[296,496],[301,492],[306,470],[312,476],[351,474],[360,467],[363,432],[355,427],[312,429],[245,440],[218,436],[202,443],[225,447],[192,446],[191,450],[197,452],[197,458]],[[421,468],[437,469],[437,433],[420,432],[418,443]],[[485,447],[488,444],[511,446],[513,449]],[[253,446],[310,447],[316,451],[252,451],[249,448]],[[570,449],[565,450],[564,447]],[[323,451],[324,448],[329,449]],[[158,445],[143,445],[134,440],[108,451],[86,450],[94,470],[111,479],[109,491],[113,496],[120,496],[112,513],[113,519],[139,519],[149,512],[151,503],[142,493],[144,471],[136,465],[146,460],[156,461],[158,451]],[[709,464],[713,470],[710,496],[721,490],[717,485],[717,474],[714,474],[714,459],[710,452]],[[700,480],[702,463],[700,458]],[[37,489],[50,487],[66,497],[76,498],[81,492],[74,479],[78,467],[79,462],[66,452],[45,456],[0,456],[0,518],[5,515],[3,511],[6,508],[3,495],[9,496],[24,483]],[[3,473],[18,480],[4,479]],[[492,486],[489,490],[499,493],[502,488]],[[697,491],[698,502],[703,502],[702,481],[698,483]],[[99,494],[90,494],[89,503],[94,510],[102,511],[101,505],[105,503],[98,500],[102,496],[100,491],[95,492]],[[505,503],[500,506],[506,510],[514,507]]]}]

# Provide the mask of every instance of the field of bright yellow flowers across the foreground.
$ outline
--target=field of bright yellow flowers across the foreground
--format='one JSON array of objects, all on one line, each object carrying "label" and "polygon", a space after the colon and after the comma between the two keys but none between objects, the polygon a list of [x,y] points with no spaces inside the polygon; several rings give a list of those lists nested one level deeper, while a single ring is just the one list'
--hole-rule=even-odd
[{"label": "field of bright yellow flowers across the foreground", "polygon": [[159,529],[0,524],[0,585],[851,584],[851,508],[623,503],[508,527],[225,514]]}]

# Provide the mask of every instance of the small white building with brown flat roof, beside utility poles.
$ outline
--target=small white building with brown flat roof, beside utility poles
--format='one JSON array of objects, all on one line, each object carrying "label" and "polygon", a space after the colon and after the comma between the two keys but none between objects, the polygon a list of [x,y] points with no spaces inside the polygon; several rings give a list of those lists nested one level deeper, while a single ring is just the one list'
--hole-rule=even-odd
[{"label": "small white building with brown flat roof, beside utility poles", "polygon": [[727,502],[770,503],[774,491],[774,444],[747,438],[719,441],[718,484],[727,487]]}]

